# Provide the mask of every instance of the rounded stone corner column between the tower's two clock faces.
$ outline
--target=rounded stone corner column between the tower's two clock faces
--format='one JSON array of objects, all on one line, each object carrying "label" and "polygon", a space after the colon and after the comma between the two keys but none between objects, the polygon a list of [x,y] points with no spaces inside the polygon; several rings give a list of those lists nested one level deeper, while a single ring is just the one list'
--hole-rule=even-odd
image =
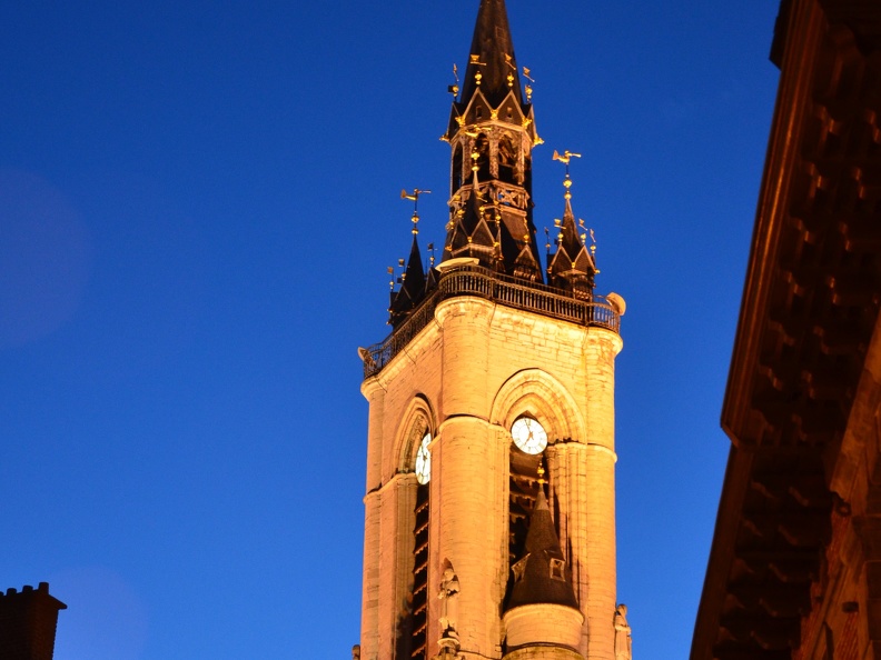
[{"label": "rounded stone corner column between the tower's two clock faces", "polygon": [[[443,332],[442,416],[432,456],[430,588],[452,564],[459,582],[457,632],[468,659],[501,656],[499,601],[504,594],[507,454],[487,421],[489,321],[495,306],[456,298],[438,306]],[[429,640],[439,638],[434,603]],[[430,654],[432,651],[429,651]]]}]

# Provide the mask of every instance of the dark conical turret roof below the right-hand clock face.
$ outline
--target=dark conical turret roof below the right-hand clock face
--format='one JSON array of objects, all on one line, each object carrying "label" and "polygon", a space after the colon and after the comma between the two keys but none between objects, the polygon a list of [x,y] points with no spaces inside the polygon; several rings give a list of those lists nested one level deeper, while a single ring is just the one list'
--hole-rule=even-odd
[{"label": "dark conical turret roof below the right-hand clock face", "polygon": [[[578,608],[575,591],[572,588],[572,573],[568,564],[562,564],[562,576],[552,577],[553,560],[563,561],[554,521],[547,508],[547,500],[540,489],[526,533],[526,554],[516,563],[521,564],[523,577],[515,577],[507,609],[526,604],[552,603]],[[525,564],[525,566],[524,566]],[[516,571],[515,571],[516,574]]]}]

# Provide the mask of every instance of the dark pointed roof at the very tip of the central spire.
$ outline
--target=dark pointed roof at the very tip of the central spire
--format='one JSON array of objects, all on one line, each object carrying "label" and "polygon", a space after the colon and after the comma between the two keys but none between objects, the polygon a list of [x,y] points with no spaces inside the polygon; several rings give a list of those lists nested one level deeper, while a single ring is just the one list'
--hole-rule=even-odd
[{"label": "dark pointed roof at the very tip of the central spire", "polygon": [[[465,70],[461,107],[466,108],[477,91],[475,74],[479,71],[481,91],[486,100],[498,108],[509,91],[514,92],[517,102],[523,106],[517,61],[514,58],[514,41],[508,28],[505,0],[481,0],[477,12],[477,24],[474,27],[472,49],[468,53],[468,67]],[[478,62],[472,62],[471,56],[478,56]],[[513,88],[508,87],[508,73],[514,76]]]}]

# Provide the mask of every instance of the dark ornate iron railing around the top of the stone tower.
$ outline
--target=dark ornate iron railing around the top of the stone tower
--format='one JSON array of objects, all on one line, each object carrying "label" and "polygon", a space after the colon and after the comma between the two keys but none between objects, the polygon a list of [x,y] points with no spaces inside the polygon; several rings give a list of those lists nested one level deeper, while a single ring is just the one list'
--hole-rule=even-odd
[{"label": "dark ornate iron railing around the top of the stone tower", "polygon": [[597,326],[613,332],[621,329],[621,316],[601,297],[578,300],[568,292],[544,284],[524,284],[516,278],[478,266],[464,266],[441,277],[437,289],[385,341],[367,349],[364,378],[382,371],[434,319],[438,302],[457,296],[476,296],[505,307],[531,311],[581,326]]}]

